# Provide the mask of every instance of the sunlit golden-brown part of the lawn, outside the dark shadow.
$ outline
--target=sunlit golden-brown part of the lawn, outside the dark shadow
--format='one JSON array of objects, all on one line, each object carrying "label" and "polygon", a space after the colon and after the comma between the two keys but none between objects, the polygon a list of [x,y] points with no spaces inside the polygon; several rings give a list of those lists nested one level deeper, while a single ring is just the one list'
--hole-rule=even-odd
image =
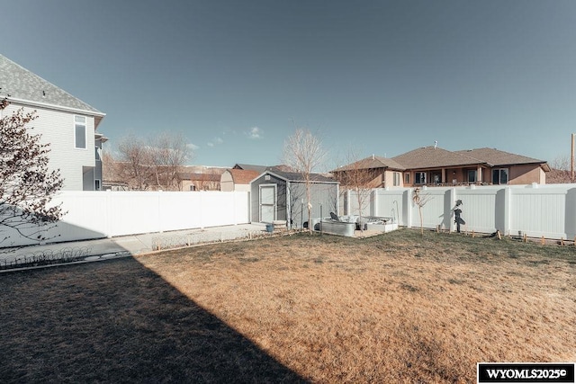
[{"label": "sunlit golden-brown part of the lawn, outside the dark shadow", "polygon": [[576,250],[401,230],[270,238],[139,262],[314,382],[471,382],[576,360]]}]

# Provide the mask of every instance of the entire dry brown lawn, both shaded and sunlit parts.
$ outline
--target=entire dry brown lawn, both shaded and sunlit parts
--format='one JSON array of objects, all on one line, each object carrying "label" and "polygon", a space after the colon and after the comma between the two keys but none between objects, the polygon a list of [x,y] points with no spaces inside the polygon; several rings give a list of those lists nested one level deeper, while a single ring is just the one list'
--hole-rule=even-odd
[{"label": "entire dry brown lawn, both shaded and sunlit parts", "polygon": [[399,230],[0,275],[4,382],[474,382],[576,360],[576,247]]}]

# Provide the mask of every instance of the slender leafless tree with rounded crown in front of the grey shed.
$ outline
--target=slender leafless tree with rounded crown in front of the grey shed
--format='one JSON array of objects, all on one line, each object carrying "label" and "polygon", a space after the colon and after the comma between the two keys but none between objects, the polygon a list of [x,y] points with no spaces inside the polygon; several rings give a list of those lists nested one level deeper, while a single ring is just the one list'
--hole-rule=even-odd
[{"label": "slender leafless tree with rounded crown in front of the grey shed", "polygon": [[309,129],[297,128],[293,135],[284,142],[284,163],[302,174],[304,179],[310,233],[312,232],[311,177],[325,157],[326,151],[322,147],[320,138],[314,136]]}]

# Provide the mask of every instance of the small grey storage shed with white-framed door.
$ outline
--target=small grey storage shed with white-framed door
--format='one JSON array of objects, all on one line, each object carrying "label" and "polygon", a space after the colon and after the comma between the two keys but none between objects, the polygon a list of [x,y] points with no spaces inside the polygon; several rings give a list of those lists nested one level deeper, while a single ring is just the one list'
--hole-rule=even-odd
[{"label": "small grey storage shed with white-framed door", "polygon": [[[311,219],[338,214],[338,182],[321,174],[311,174]],[[302,228],[308,221],[306,182],[302,174],[266,171],[250,183],[250,219],[272,223],[286,220],[289,228]]]}]

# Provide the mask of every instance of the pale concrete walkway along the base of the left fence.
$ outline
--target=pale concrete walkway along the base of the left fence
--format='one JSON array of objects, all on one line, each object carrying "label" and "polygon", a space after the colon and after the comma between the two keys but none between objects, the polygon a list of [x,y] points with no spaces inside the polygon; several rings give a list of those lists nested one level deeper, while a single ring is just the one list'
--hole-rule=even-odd
[{"label": "pale concrete walkway along the base of the left fence", "polygon": [[238,238],[257,237],[265,234],[266,226],[263,224],[240,224],[236,226],[186,229],[96,240],[53,243],[44,246],[24,246],[23,248],[13,251],[0,248],[0,270],[11,263],[30,263],[30,261],[42,259],[94,261],[125,255],[141,255],[178,246],[229,241]]}]

